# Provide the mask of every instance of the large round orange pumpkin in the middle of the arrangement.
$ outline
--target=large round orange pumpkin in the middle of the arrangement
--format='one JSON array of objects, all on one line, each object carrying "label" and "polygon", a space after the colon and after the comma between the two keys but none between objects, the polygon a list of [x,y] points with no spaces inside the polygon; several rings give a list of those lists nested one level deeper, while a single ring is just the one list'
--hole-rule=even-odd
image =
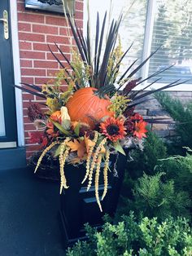
[{"label": "large round orange pumpkin in the middle of the arrangement", "polygon": [[66,104],[72,121],[85,122],[92,129],[94,129],[95,121],[99,121],[103,117],[113,117],[114,115],[107,110],[111,104],[109,98],[106,96],[106,99],[101,99],[94,94],[95,91],[97,89],[92,87],[76,90]]}]

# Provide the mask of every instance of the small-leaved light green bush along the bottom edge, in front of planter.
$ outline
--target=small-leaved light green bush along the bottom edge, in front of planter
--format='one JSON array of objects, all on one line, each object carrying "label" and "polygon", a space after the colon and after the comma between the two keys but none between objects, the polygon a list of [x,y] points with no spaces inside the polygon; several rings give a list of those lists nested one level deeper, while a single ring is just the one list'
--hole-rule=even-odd
[{"label": "small-leaved light green bush along the bottom edge, in front of planter", "polygon": [[97,232],[86,226],[88,241],[78,242],[68,249],[67,256],[190,256],[191,229],[185,218],[142,218],[137,222],[133,213],[123,216],[117,224],[105,223]]}]

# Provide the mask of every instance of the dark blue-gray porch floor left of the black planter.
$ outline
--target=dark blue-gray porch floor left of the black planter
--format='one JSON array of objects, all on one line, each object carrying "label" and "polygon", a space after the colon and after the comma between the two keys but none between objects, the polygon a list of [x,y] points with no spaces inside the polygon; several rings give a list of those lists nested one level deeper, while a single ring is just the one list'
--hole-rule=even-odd
[{"label": "dark blue-gray porch floor left of the black planter", "polygon": [[59,184],[28,169],[0,171],[0,255],[63,256]]}]

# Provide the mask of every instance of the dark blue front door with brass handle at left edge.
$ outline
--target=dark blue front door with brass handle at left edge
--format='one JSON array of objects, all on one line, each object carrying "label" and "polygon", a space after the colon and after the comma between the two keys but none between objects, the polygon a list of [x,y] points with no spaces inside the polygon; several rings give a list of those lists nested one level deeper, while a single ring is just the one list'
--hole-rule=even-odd
[{"label": "dark blue front door with brass handle at left edge", "polygon": [[17,146],[10,2],[0,0],[0,148]]}]

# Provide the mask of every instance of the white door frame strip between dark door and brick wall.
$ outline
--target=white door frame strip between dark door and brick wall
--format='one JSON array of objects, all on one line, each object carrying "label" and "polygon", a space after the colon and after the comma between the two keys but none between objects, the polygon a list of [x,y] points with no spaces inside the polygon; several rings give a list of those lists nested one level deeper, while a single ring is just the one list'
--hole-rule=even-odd
[{"label": "white door frame strip between dark door and brick wall", "polygon": [[[18,38],[17,0],[10,0],[11,42],[15,85],[20,84],[20,47]],[[18,146],[24,146],[24,117],[22,91],[15,89]]]}]

